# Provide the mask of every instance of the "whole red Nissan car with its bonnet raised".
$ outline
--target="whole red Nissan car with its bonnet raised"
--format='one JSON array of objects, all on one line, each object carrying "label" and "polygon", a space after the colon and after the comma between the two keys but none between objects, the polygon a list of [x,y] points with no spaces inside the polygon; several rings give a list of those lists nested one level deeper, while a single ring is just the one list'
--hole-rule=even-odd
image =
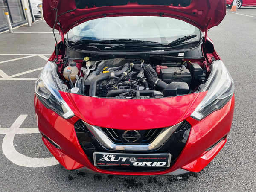
[{"label": "whole red Nissan car with its bonnet raised", "polygon": [[233,80],[207,37],[223,0],[44,0],[61,40],[35,84],[44,144],[66,168],[199,172],[227,142]]}]

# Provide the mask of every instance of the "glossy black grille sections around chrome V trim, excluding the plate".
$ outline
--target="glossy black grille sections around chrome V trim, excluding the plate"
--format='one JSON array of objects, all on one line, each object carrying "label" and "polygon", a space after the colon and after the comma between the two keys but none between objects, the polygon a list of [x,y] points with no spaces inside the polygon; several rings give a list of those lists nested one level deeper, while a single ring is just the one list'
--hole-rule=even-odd
[{"label": "glossy black grille sections around chrome V trim, excluding the plate", "polygon": [[[160,148],[150,151],[116,151],[104,148],[101,143],[94,137],[94,135],[89,131],[89,129],[84,125],[84,123],[79,120],[74,125],[77,139],[79,140],[79,144],[84,150],[87,157],[93,163],[93,153],[94,152],[106,152],[106,153],[129,153],[129,154],[154,154],[154,153],[170,153],[171,156],[171,166],[172,163],[175,162],[177,157],[180,155],[181,151],[186,145],[186,141],[189,137],[189,133],[191,130],[191,125],[188,122],[184,121],[177,128],[177,130],[170,136],[169,140],[166,141]],[[119,137],[119,129],[108,129],[102,128],[105,130],[105,133],[108,133],[108,137],[115,137],[115,143],[121,141]],[[107,131],[107,132],[106,132]],[[121,130],[122,131],[122,130]],[[162,131],[160,129],[149,129],[144,130],[145,134],[143,136],[144,142],[150,142],[154,140],[155,137]],[[113,141],[113,140],[112,140]],[[114,141],[113,141],[114,142]],[[122,143],[121,143],[122,144]],[[122,167],[122,166],[96,166],[99,169],[112,170],[112,171],[125,171],[125,172],[152,172],[152,171],[160,171],[167,169],[166,167]]]}]

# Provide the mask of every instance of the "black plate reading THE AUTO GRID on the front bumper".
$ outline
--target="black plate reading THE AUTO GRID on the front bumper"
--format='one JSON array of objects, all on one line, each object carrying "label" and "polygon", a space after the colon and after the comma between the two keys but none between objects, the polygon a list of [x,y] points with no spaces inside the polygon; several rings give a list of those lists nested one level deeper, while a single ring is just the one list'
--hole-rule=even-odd
[{"label": "black plate reading THE AUTO GRID on the front bumper", "polygon": [[169,167],[171,154],[122,154],[94,152],[95,166],[151,166]]}]

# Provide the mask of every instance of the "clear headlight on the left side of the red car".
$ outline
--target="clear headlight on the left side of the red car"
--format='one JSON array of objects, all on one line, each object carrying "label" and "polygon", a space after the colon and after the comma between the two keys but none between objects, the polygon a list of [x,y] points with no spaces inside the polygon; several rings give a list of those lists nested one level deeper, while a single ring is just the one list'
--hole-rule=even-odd
[{"label": "clear headlight on the left side of the red car", "polygon": [[61,97],[59,91],[66,92],[67,86],[61,84],[56,72],[57,65],[48,61],[35,82],[35,93],[44,106],[64,119],[69,119],[75,114]]}]

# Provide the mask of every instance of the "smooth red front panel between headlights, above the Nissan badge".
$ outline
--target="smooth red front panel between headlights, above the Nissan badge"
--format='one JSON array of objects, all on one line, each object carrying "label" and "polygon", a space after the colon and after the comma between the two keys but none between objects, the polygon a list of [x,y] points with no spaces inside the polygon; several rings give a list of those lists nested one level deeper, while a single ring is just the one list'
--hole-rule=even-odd
[{"label": "smooth red front panel between headlights, above the Nissan badge", "polygon": [[[176,125],[195,111],[206,93],[142,100],[95,98],[64,92],[61,96],[73,113],[90,125],[142,130]],[[124,122],[132,122],[136,126]]]}]

